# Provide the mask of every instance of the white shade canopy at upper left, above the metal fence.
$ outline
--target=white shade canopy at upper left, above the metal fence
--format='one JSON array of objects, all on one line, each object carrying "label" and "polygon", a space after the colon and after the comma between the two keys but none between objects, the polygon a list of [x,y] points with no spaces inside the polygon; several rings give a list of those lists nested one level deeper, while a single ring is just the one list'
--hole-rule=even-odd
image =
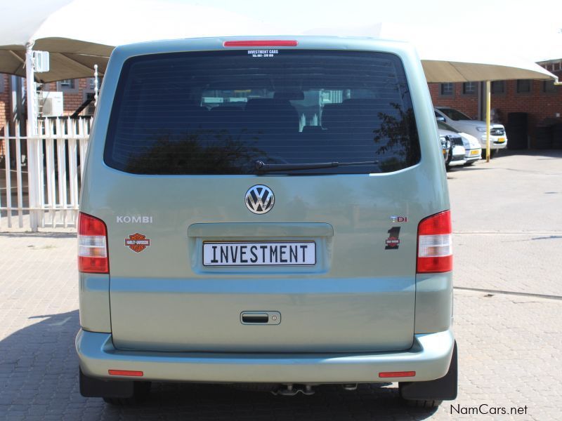
[{"label": "white shade canopy at upper left, above the metal fence", "polygon": [[0,72],[25,76],[25,46],[48,51],[39,82],[103,75],[115,46],[155,39],[271,34],[273,27],[244,15],[156,0],[20,0],[0,4]]}]

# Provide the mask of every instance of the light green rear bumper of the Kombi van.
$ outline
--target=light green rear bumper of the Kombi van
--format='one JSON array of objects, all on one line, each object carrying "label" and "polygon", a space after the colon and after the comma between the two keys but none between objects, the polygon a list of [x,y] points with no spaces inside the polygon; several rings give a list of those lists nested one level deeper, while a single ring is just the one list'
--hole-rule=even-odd
[{"label": "light green rear bumper of the Kombi van", "polygon": [[[91,377],[128,379],[107,370],[141,370],[133,380],[183,382],[347,383],[426,381],[443,377],[455,338],[452,330],[414,335],[403,352],[373,354],[250,354],[226,352],[138,352],[115,349],[110,333],[80,330],[76,349],[81,370]],[[414,377],[385,377],[415,371]]]}]

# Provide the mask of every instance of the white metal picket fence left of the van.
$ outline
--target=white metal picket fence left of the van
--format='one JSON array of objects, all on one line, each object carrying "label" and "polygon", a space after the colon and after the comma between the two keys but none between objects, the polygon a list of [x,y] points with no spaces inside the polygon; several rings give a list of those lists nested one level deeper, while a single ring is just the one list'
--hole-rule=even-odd
[{"label": "white metal picket fence left of the van", "polygon": [[76,227],[90,126],[90,118],[41,119],[37,137],[17,124],[4,129],[0,229]]}]

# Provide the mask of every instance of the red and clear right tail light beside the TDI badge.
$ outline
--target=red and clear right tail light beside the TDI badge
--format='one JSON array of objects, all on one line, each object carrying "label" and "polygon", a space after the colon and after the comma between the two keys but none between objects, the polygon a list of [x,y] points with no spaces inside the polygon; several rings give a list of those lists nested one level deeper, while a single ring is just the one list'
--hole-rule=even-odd
[{"label": "red and clear right tail light beside the TDI badge", "polygon": [[417,273],[452,271],[452,226],[450,210],[419,222],[417,228]]}]

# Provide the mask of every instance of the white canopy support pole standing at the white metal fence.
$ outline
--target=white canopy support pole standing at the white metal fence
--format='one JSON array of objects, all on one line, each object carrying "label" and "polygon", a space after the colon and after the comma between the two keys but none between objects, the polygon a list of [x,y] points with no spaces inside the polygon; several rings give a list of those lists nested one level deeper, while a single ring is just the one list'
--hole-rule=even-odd
[{"label": "white canopy support pole standing at the white metal fence", "polygon": [[[39,145],[37,139],[37,91],[35,87],[33,42],[25,46],[25,101],[27,103],[27,177],[30,201],[30,226],[32,232],[37,232],[39,208]],[[42,146],[42,145],[41,145]]]}]

